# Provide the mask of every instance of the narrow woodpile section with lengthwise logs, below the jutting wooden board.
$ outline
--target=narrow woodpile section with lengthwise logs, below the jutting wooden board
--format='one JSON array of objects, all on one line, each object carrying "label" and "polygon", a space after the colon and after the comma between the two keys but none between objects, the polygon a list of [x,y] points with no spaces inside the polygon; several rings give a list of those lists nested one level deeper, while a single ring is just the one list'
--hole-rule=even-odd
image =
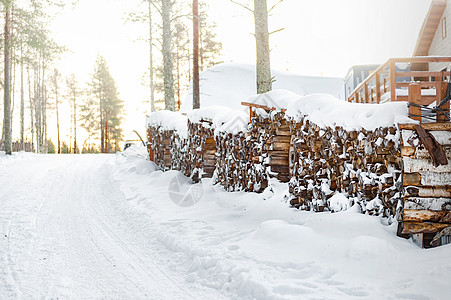
[{"label": "narrow woodpile section with lengthwise logs, below the jutting wooden board", "polygon": [[250,136],[254,161],[267,168],[270,177],[281,182],[290,180],[289,150],[291,133],[283,111],[251,108]]}]

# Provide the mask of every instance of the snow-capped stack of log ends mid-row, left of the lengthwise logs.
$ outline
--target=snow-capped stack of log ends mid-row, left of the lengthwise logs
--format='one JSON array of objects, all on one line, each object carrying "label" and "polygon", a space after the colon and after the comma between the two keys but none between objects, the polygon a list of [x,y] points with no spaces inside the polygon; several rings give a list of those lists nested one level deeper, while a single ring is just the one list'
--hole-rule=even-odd
[{"label": "snow-capped stack of log ends mid-row, left of the lengthwise logs", "polygon": [[216,130],[215,181],[227,191],[262,192],[268,186],[268,172],[259,155],[262,144],[248,127],[246,117],[237,117]]}]

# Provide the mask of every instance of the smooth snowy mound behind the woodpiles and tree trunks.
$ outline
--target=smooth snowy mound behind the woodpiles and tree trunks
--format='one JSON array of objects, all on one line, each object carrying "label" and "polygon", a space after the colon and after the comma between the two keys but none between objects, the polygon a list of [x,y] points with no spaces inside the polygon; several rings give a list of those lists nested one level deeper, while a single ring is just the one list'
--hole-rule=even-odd
[{"label": "smooth snowy mound behind the woodpiles and tree trunks", "polygon": [[[344,99],[342,78],[302,76],[288,72],[272,70],[275,82],[273,89],[286,89],[298,95],[312,93],[331,94]],[[212,105],[242,109],[241,101],[256,94],[255,66],[248,64],[224,63],[208,68],[200,74],[201,107]],[[192,109],[192,86],[180,109],[188,112]]]}]

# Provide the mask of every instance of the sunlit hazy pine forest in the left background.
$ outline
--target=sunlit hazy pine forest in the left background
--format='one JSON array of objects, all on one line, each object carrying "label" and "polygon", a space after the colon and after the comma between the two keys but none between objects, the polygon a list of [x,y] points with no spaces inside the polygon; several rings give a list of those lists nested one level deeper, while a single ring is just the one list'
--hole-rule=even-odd
[{"label": "sunlit hazy pine forest in the left background", "polygon": [[[145,101],[151,111],[178,110],[194,68],[193,3],[137,3],[123,12],[123,23],[137,24],[147,32],[140,37],[148,45],[148,57],[142,57],[148,65],[142,74],[142,85],[149,90]],[[76,0],[0,2],[4,29],[0,38],[4,62],[0,66],[1,151],[109,153],[121,149],[126,102],[102,53],[89,81],[60,70],[60,57],[71,50],[55,41],[51,24],[62,10],[77,4]],[[220,62],[222,44],[216,40],[215,23],[206,17],[207,1],[199,1],[198,8],[197,68],[202,71]]]}]

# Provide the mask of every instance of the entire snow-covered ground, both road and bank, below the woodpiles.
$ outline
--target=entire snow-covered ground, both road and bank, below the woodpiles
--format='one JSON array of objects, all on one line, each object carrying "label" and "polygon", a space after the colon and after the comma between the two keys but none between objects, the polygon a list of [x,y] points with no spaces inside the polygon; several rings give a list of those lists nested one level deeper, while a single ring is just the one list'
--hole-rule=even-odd
[{"label": "entire snow-covered ground, both road and bank, below the woodpiles", "polygon": [[143,155],[0,154],[0,298],[451,295],[451,245],[419,249],[355,209],[292,209],[279,183],[204,180],[181,199],[181,174]]}]

